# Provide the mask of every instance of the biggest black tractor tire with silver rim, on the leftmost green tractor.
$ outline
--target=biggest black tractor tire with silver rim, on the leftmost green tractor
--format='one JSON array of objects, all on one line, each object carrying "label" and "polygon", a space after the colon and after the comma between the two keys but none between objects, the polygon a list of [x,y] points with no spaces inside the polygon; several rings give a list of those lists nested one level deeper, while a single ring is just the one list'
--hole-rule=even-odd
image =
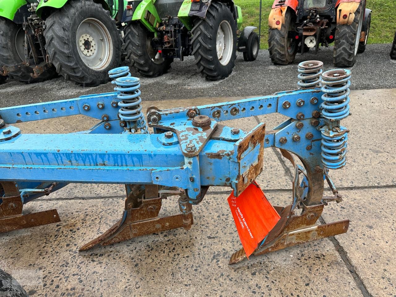
[{"label": "biggest black tractor tire with silver rim, on the leftmost green tractor", "polygon": [[[80,36],[78,36],[80,35]],[[92,0],[72,0],[46,19],[49,61],[66,80],[82,86],[108,82],[121,63],[121,37],[108,10]]]}]

